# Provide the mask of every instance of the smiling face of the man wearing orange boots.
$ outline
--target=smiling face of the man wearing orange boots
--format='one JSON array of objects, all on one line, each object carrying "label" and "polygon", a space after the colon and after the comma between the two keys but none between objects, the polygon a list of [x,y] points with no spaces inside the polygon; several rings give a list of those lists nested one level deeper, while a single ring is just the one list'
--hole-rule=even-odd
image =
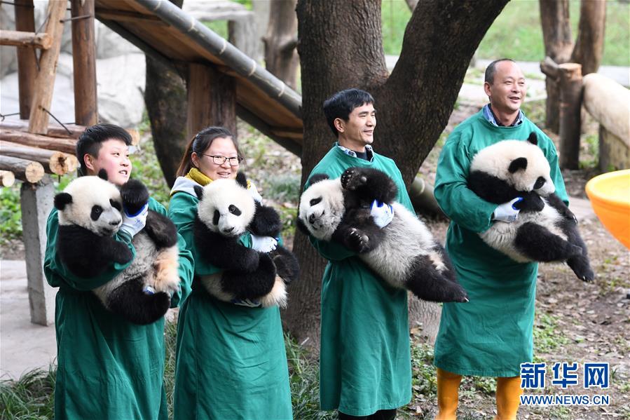
[{"label": "smiling face of the man wearing orange boots", "polygon": [[484,91],[490,98],[492,110],[498,114],[512,115],[521,109],[527,86],[519,66],[512,61],[496,64],[492,84],[484,83]]}]

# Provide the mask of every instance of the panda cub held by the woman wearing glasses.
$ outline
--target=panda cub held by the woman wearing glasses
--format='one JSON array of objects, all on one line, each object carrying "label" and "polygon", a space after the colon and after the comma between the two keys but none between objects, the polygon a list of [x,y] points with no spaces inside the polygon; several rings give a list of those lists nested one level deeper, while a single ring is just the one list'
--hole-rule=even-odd
[{"label": "panda cub held by the woman wearing glasses", "polygon": [[299,276],[296,257],[280,245],[265,253],[238,242],[248,230],[278,237],[282,227],[278,213],[254,201],[242,172],[236,179],[195,187],[195,192],[199,198],[196,248],[205,262],[224,270],[200,278],[207,292],[224,302],[287,306],[287,284]]}]

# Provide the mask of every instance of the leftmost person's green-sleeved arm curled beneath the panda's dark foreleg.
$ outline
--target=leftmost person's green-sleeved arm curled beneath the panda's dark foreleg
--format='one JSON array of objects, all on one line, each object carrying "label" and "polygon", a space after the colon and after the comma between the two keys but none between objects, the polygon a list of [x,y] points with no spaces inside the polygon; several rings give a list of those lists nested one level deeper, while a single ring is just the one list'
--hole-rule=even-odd
[{"label": "leftmost person's green-sleeved arm curled beneath the panda's dark foreleg", "polygon": [[[73,289],[88,291],[93,290],[96,287],[100,287],[107,283],[109,280],[118,276],[124,269],[126,269],[132,262],[125,264],[118,264],[112,262],[109,268],[102,273],[102,275],[95,278],[82,278],[75,276],[66,266],[61,262],[59,255],[57,254],[57,233],[59,230],[59,219],[57,217],[57,210],[53,209],[48,216],[48,222],[46,223],[46,253],[44,255],[43,272],[46,276],[48,284],[53,287],[60,287],[62,284],[69,285]],[[131,241],[132,237],[125,233],[116,233],[114,236],[116,241],[125,243],[132,252],[135,258],[136,252]]]}]

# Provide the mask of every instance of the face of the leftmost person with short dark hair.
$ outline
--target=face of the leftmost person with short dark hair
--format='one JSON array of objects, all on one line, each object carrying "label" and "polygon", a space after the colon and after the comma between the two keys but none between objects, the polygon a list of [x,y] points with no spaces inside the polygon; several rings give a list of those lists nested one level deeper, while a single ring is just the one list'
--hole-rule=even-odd
[{"label": "face of the leftmost person with short dark hair", "polygon": [[98,155],[85,154],[85,167],[88,175],[97,175],[104,169],[107,179],[119,187],[129,180],[131,175],[131,161],[129,160],[129,147],[123,140],[109,139],[101,143]]}]

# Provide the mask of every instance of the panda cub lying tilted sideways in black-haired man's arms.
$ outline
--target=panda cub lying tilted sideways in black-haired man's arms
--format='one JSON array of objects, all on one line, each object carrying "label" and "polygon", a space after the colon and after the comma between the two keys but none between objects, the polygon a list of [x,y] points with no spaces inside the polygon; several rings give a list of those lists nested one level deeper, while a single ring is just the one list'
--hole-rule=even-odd
[{"label": "panda cub lying tilted sideways in black-haired man's arms", "polygon": [[[310,178],[300,198],[298,226],[321,241],[334,241],[395,287],[431,302],[468,302],[444,248],[427,226],[397,203],[394,181],[380,170],[348,168],[340,178]],[[370,215],[372,201],[388,203],[392,221],[379,228]]]}]

